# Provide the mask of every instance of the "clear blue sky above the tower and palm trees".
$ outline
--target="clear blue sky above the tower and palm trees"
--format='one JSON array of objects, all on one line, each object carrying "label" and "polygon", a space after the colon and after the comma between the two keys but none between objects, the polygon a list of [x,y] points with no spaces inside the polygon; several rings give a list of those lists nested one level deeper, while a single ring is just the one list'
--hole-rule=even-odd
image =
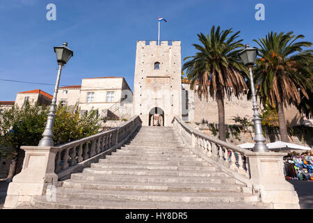
[{"label": "clear blue sky above the tower and palm trees", "polygon": [[[56,5],[56,21],[47,21],[48,3]],[[255,5],[264,3],[265,20],[255,20]],[[313,42],[313,1],[308,0],[1,0],[0,79],[55,84],[53,47],[69,43],[74,57],[67,63],[61,85],[79,85],[86,77],[125,77],[134,85],[136,40],[155,40],[158,17],[161,39],[181,40],[182,59],[195,53],[197,33],[212,25],[241,31],[252,43],[268,31],[294,31]],[[19,91],[54,86],[0,81],[0,100],[15,100]]]}]

